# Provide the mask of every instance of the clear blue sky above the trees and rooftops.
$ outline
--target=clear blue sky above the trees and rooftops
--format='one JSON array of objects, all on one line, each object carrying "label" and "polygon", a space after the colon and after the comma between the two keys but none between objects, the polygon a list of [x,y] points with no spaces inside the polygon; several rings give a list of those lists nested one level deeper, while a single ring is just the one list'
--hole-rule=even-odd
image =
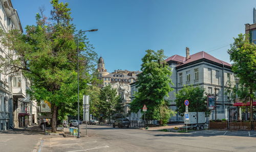
[{"label": "clear blue sky above the trees and rooftops", "polygon": [[[146,49],[164,49],[167,57],[204,50],[229,62],[227,49],[233,37],[252,23],[254,0],[62,0],[69,3],[77,29],[87,33],[95,52],[103,57],[109,72],[140,70]],[[35,23],[35,14],[50,1],[12,0],[23,28]],[[219,49],[218,49],[219,48]],[[210,52],[209,52],[210,51]],[[230,63],[230,62],[229,62]]]}]

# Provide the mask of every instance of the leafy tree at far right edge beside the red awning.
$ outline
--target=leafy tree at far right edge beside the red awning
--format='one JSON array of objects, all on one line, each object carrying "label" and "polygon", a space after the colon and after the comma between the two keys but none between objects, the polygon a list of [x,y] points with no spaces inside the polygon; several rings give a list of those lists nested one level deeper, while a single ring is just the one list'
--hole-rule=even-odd
[{"label": "leafy tree at far right edge beside the red awning", "polygon": [[[240,98],[250,100],[250,120],[253,121],[253,99],[256,90],[256,45],[250,43],[249,35],[239,34],[234,38],[227,53],[232,61],[232,71],[237,74],[240,90]],[[247,94],[247,95],[246,95]],[[253,125],[251,123],[251,129]]]}]

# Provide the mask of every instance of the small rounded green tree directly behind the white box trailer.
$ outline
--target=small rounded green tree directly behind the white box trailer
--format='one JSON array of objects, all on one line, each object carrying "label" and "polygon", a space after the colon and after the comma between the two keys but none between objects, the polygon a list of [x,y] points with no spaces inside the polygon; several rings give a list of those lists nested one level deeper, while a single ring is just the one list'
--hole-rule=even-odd
[{"label": "small rounded green tree directly behind the white box trailer", "polygon": [[185,112],[184,101],[189,101],[188,111],[190,112],[205,112],[206,116],[209,115],[207,110],[207,97],[204,95],[204,89],[201,87],[184,86],[181,90],[175,94],[177,112],[183,116]]}]

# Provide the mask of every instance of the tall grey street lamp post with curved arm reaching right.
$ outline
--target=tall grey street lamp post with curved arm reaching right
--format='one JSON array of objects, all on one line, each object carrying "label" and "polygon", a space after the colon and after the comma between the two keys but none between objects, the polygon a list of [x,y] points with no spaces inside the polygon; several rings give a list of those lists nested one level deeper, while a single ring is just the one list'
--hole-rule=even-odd
[{"label": "tall grey street lamp post with curved arm reaching right", "polygon": [[[95,32],[98,31],[98,29],[93,29],[93,30],[87,30],[87,31],[79,31],[77,34],[77,108],[78,108],[78,132],[77,132],[77,138],[80,138],[80,127],[79,127],[79,62],[78,62],[78,54],[79,54],[79,35],[83,32]],[[86,122],[87,123],[87,122]]]}]

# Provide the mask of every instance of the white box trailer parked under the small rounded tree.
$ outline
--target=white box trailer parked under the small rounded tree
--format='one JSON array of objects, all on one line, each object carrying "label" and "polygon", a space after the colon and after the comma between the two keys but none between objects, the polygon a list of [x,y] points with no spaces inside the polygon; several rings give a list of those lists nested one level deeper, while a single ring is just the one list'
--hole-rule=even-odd
[{"label": "white box trailer parked under the small rounded tree", "polygon": [[187,124],[204,124],[205,123],[205,112],[188,112],[188,120],[183,117],[184,123]]}]

